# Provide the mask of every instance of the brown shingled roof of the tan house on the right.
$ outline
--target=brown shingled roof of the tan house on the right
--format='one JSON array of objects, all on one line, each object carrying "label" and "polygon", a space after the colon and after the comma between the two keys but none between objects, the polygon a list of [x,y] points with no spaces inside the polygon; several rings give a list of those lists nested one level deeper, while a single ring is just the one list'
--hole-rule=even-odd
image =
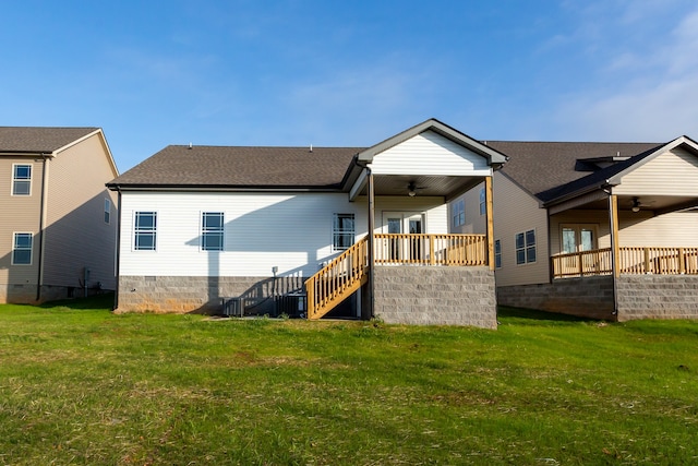
[{"label": "brown shingled roof of the tan house on the right", "polygon": [[[514,142],[488,141],[509,156],[502,172],[543,202],[592,186],[638,160],[638,155],[658,148],[659,143],[606,142]],[[595,172],[575,169],[578,159],[635,157]]]}]

